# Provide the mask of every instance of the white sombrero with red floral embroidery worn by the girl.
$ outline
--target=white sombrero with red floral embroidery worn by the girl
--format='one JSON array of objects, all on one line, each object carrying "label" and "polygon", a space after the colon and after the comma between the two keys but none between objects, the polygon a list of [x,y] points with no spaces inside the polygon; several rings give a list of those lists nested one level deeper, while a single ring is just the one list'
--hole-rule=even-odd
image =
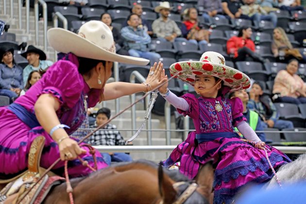
[{"label": "white sombrero with red floral embroidery worn by the girl", "polygon": [[183,61],[177,62],[170,66],[170,74],[173,76],[179,71],[177,78],[190,85],[194,85],[195,76],[206,74],[220,78],[224,85],[230,88],[230,92],[247,89],[250,87],[250,78],[238,71],[225,65],[224,57],[214,51],[203,53],[200,61]]}]

